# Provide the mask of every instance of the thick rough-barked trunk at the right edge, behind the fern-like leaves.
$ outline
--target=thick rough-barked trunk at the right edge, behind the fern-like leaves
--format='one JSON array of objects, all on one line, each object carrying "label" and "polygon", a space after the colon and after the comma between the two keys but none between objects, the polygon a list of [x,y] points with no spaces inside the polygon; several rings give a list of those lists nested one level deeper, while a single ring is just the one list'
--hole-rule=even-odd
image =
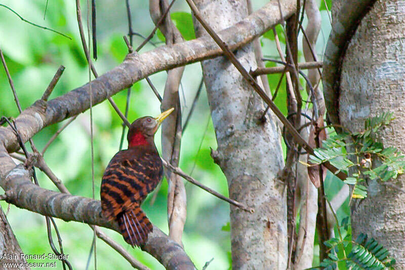
[{"label": "thick rough-barked trunk at the right edge, behind the fern-like leaves", "polygon": [[[377,1],[361,20],[342,63],[339,118],[350,131],[384,111],[395,120],[379,134],[385,147],[405,151],[405,2]],[[329,108],[328,108],[329,109]],[[390,180],[403,188],[405,176]],[[369,180],[368,198],[352,204],[353,237],[366,233],[405,268],[405,194]]]}]

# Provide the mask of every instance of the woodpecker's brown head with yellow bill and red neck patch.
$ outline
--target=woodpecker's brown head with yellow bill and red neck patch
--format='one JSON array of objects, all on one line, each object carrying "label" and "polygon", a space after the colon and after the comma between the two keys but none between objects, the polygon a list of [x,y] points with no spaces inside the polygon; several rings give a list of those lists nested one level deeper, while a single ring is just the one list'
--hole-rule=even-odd
[{"label": "woodpecker's brown head with yellow bill and red neck patch", "polygon": [[147,145],[151,141],[153,142],[153,137],[160,127],[161,122],[163,122],[172,111],[174,111],[174,108],[160,113],[156,118],[146,116],[132,122],[127,136],[128,147]]}]

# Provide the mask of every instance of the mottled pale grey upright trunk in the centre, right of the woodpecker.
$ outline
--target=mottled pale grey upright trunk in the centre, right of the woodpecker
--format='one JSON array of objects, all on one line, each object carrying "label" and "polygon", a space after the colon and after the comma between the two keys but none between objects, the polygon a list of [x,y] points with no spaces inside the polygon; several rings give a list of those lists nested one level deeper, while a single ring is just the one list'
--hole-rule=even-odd
[{"label": "mottled pale grey upright trunk in the centre, right of the woodpecker", "polygon": [[[194,2],[215,31],[247,15],[246,0]],[[269,5],[273,4],[276,15],[277,2]],[[196,20],[194,27],[198,36],[207,35]],[[252,45],[234,53],[246,70],[256,69]],[[255,209],[251,214],[231,206],[232,267],[285,269],[286,194],[285,185],[276,180],[284,161],[276,122],[270,117],[258,124],[263,102],[226,58],[204,61],[202,66],[218,141],[216,160],[228,180],[229,197]]]}]

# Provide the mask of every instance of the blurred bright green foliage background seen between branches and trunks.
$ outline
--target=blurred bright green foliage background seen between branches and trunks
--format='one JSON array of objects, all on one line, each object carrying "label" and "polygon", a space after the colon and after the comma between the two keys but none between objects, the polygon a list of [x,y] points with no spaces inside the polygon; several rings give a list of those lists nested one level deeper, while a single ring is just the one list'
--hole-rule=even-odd
[{"label": "blurred bright green foliage background seen between branches and trunks", "polygon": [[[24,19],[46,26],[70,36],[72,40],[51,31],[34,27],[21,21],[15,14],[0,6],[0,48],[8,64],[22,108],[30,106],[40,99],[53,75],[60,65],[66,67],[59,83],[56,85],[50,99],[63,95],[89,80],[87,62],[83,53],[78,33],[76,10],[73,1],[49,1],[44,18],[46,0],[0,0],[0,4],[13,9]],[[268,1],[254,0],[254,10],[265,5]],[[326,42],[330,32],[330,20],[325,9],[325,2],[320,1],[322,15],[322,30],[316,46],[318,60],[322,59]],[[330,1],[327,1],[330,8]],[[127,47],[123,35],[128,33],[128,20],[125,1],[98,0],[97,5],[97,45],[98,59],[95,67],[102,74],[115,67],[127,54]],[[132,27],[135,32],[143,36],[149,35],[154,25],[149,16],[147,1],[130,1]],[[86,28],[87,2],[82,1],[82,16]],[[184,1],[176,1],[171,9],[172,19],[179,27],[183,36],[190,40],[194,38],[194,31],[190,10]],[[304,25],[306,22],[304,20]],[[277,27],[280,40],[284,42],[284,33]],[[86,34],[87,35],[87,34]],[[157,33],[150,44],[141,51],[149,51],[154,46],[161,46],[164,42],[162,35]],[[301,38],[299,38],[301,41]],[[134,47],[141,44],[143,38],[134,36]],[[263,54],[278,59],[272,32],[261,37]],[[302,48],[302,46],[299,46]],[[302,53],[300,61],[304,61]],[[266,64],[274,66],[275,64]],[[0,68],[0,115],[17,117],[18,110],[3,67]],[[279,74],[269,75],[270,88],[274,91],[279,80]],[[150,76],[151,81],[159,93],[163,95],[166,72],[159,72]],[[195,93],[202,79],[199,63],[188,65],[185,69],[180,89],[183,123],[191,108]],[[302,82],[304,85],[304,81]],[[303,97],[306,93],[303,90]],[[125,110],[127,91],[121,91],[113,96],[114,101]],[[275,100],[281,111],[287,112],[285,83]],[[132,87],[129,121],[144,115],[157,115],[160,104],[145,81],[136,83]],[[106,165],[118,151],[122,126],[118,115],[108,103],[94,107],[94,150],[95,150],[95,188],[96,199],[100,199],[99,190],[101,176]],[[45,146],[51,136],[64,122],[45,128],[34,136],[33,140],[39,150]],[[155,136],[156,146],[160,151],[160,132]],[[125,140],[124,147],[127,142]],[[27,144],[29,147],[29,144]],[[211,122],[207,95],[203,91],[199,96],[194,113],[187,129],[183,133],[181,146],[180,167],[188,174],[205,185],[228,196],[227,182],[219,166],[214,164],[210,156],[210,148],[216,149],[215,132]],[[283,147],[285,145],[283,142]],[[90,114],[80,114],[51,144],[45,153],[45,160],[54,173],[63,181],[73,195],[92,197],[91,155],[90,155]],[[52,182],[39,170],[36,170],[39,184],[44,188],[56,190]],[[208,269],[228,269],[230,267],[230,232],[229,205],[220,201],[206,191],[185,183],[187,191],[187,220],[184,229],[183,244],[185,251],[191,257],[197,268],[214,258]],[[328,175],[326,188],[329,199],[332,199],[340,189],[341,182]],[[0,188],[0,194],[4,190]],[[167,225],[167,181],[164,179],[158,191],[156,200],[151,204],[150,195],[142,208],[150,220],[168,233]],[[52,252],[47,238],[45,218],[39,214],[8,206],[1,202],[7,218],[14,230],[21,248],[26,254],[42,254]],[[338,211],[340,217],[348,214],[348,202]],[[86,224],[78,222],[64,222],[55,219],[63,239],[65,254],[69,254],[69,261],[75,269],[85,269],[93,239],[93,232]],[[299,219],[297,219],[299,220]],[[132,249],[123,238],[111,230],[103,229],[110,237],[124,245],[139,261],[151,269],[163,269],[163,266],[149,254],[140,249]],[[54,236],[56,239],[56,236]],[[317,240],[315,240],[317,241]],[[315,247],[316,248],[316,247]],[[314,263],[317,263],[315,257]],[[29,262],[38,262],[28,260]],[[108,247],[104,242],[97,241],[98,269],[127,269],[131,265],[120,255]],[[41,261],[44,262],[44,261]],[[53,262],[53,261],[50,261]],[[91,266],[93,268],[93,257]],[[315,264],[317,265],[317,264]],[[57,262],[57,267],[62,268]],[[54,268],[53,268],[54,269]]]}]

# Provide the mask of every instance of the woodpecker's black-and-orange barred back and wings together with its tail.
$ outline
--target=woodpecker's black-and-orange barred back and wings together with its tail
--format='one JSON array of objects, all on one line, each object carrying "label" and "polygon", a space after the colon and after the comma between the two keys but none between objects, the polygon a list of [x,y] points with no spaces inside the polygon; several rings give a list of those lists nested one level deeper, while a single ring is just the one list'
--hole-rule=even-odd
[{"label": "woodpecker's black-and-orange barred back and wings together with its tail", "polygon": [[132,246],[145,243],[152,231],[140,205],[162,176],[157,152],[134,149],[116,153],[104,172],[100,190],[103,215],[118,221],[124,239]]}]

